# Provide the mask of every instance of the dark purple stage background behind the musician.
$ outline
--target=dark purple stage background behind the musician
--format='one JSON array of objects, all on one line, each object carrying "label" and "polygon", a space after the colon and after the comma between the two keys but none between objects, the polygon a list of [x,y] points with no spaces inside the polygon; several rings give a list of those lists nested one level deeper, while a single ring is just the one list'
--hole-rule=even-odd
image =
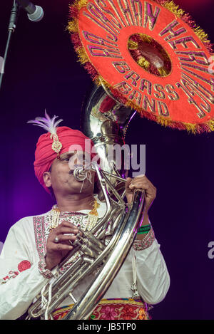
[{"label": "dark purple stage background behind the musician", "polygon": [[[91,78],[76,61],[68,33],[68,0],[38,0],[44,19],[32,23],[21,11],[12,38],[0,95],[0,241],[24,216],[51,208],[34,176],[34,151],[41,135],[28,120],[58,115],[79,129],[79,113]],[[213,0],[176,1],[214,42]],[[0,4],[0,56],[4,55],[13,0]],[[127,144],[146,144],[146,174],[158,189],[150,216],[170,273],[170,291],[151,311],[153,319],[214,319],[214,133],[188,135],[133,118]]]}]

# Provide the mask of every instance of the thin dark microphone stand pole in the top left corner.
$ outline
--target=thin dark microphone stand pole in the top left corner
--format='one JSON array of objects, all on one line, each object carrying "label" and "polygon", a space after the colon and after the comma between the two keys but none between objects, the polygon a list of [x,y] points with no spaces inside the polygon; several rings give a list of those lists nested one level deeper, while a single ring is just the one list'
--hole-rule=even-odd
[{"label": "thin dark microphone stand pole in the top left corner", "polygon": [[7,42],[6,42],[6,48],[5,48],[5,51],[4,51],[3,63],[2,63],[2,66],[0,68],[0,70],[1,70],[1,73],[0,73],[0,90],[1,90],[1,84],[2,84],[3,75],[4,75],[4,68],[5,68],[6,58],[7,58],[7,54],[8,54],[8,51],[9,51],[11,36],[12,36],[12,33],[14,33],[14,31],[16,30],[16,23],[18,21],[19,9],[20,9],[19,4],[16,2],[16,0],[14,0],[14,4],[13,4],[12,9],[11,9],[11,17],[10,17],[9,27],[8,27],[9,34],[8,34],[8,38],[7,38]]}]

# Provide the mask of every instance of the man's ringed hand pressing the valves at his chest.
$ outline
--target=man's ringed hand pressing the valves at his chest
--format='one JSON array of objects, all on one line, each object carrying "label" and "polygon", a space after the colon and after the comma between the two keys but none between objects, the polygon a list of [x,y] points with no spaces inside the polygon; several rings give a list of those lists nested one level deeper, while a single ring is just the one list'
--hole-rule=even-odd
[{"label": "man's ringed hand pressing the valves at his chest", "polygon": [[[50,232],[47,240],[46,251],[46,267],[51,270],[73,249],[69,241],[76,240],[76,234],[78,234],[78,228],[69,223],[68,221],[62,221],[60,225]],[[74,235],[71,235],[74,234]],[[58,238],[58,243],[54,242],[54,239]]]}]

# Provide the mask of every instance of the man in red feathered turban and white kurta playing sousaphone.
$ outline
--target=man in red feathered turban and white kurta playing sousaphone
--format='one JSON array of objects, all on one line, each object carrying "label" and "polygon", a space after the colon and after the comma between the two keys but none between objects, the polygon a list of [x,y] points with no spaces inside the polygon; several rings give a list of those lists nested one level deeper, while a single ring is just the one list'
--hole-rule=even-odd
[{"label": "man in red feathered turban and white kurta playing sousaphone", "polygon": [[[61,120],[55,120],[56,116],[51,120],[46,114],[46,118],[30,121],[48,131],[37,142],[34,167],[41,185],[54,194],[56,205],[46,214],[21,219],[9,231],[0,258],[1,319],[13,320],[26,313],[42,288],[48,282],[51,287],[54,278],[61,276],[78,259],[80,253],[77,251],[58,268],[73,250],[78,236],[93,229],[106,212],[106,203],[93,193],[95,172],[88,169],[83,181],[73,175],[73,169],[86,164],[79,159],[80,147],[81,152],[93,159],[94,154],[85,145],[88,138],[78,130],[57,127]],[[77,148],[71,151],[73,145]],[[156,188],[146,176],[127,178],[128,203],[131,203],[136,188],[145,189],[143,223],[123,266],[90,319],[147,320],[147,304],[160,303],[168,292],[170,278],[148,219]],[[91,273],[78,283],[73,291],[76,300],[93,282],[95,274]],[[71,298],[66,298],[51,318],[63,318],[71,307]]]}]

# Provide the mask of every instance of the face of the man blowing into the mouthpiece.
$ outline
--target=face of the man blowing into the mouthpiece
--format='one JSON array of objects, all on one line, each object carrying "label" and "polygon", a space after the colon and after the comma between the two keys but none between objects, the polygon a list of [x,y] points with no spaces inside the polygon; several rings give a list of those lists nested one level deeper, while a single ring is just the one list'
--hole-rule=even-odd
[{"label": "face of the man blowing into the mouthpiece", "polygon": [[[52,187],[55,196],[57,194],[93,194],[95,172],[91,171],[91,182],[86,178],[78,181],[73,176],[73,169],[88,165],[87,155],[84,152],[66,152],[55,159],[51,165],[51,171],[44,173],[47,187]],[[88,178],[90,172],[88,170]]]}]

